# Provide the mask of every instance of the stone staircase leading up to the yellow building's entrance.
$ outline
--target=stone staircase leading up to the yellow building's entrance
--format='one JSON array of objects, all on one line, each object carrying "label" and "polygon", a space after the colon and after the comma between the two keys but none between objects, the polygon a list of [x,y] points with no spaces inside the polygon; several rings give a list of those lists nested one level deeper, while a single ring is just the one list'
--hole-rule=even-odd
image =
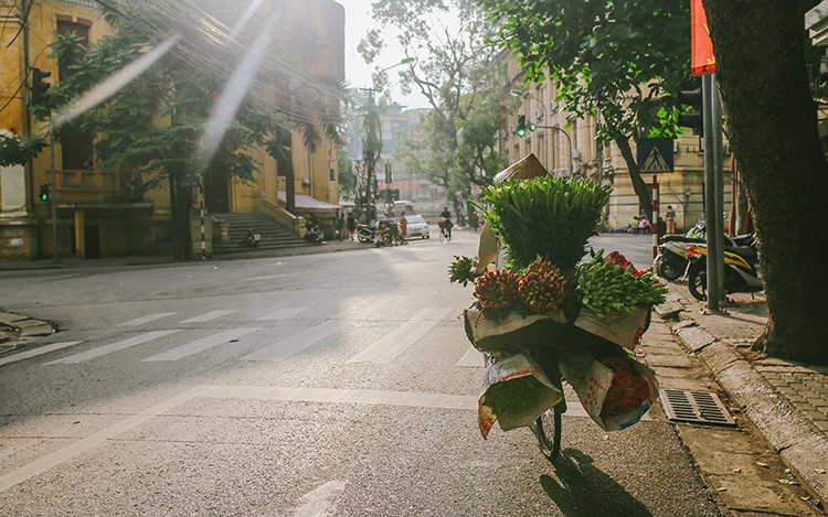
[{"label": "stone staircase leading up to the yellow building's entrance", "polygon": [[[301,237],[297,237],[266,215],[256,212],[212,214],[212,216],[215,219],[223,220],[227,225],[227,235],[230,237],[227,240],[213,241],[214,255],[320,246],[319,244],[309,243]],[[250,248],[244,244],[248,229],[262,236],[256,248]]]}]

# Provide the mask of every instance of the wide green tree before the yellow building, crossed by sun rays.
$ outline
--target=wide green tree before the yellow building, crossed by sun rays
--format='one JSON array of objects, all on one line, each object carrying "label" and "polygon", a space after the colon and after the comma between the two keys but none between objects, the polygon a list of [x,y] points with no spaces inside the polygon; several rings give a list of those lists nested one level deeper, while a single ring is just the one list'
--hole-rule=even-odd
[{"label": "wide green tree before the yellow building, crossed by sun rays", "polygon": [[[225,189],[231,177],[252,182],[259,164],[246,152],[262,146],[287,176],[287,208],[295,209],[291,131],[298,130],[312,152],[321,134],[338,141],[338,101],[342,87],[325,78],[311,78],[291,67],[299,60],[289,29],[276,31],[272,52],[257,63],[250,89],[244,91],[232,121],[209,160],[202,163],[201,144],[211,129],[215,100],[234,77],[238,64],[257,44],[270,19],[254,19],[245,35],[229,29],[240,10],[208,1],[203,10],[185,9],[176,2],[113,2],[103,8],[114,28],[88,49],[72,35],[59,35],[53,57],[62,72],[52,95],[57,106],[73,103],[84,93],[135,62],[147,49],[178,33],[176,46],[159,62],[126,86],[60,128],[95,134],[95,166],[120,168],[128,174],[130,195],[168,185],[172,205],[176,258],[189,255],[191,177],[201,176],[208,203],[211,192]],[[210,14],[213,13],[213,14]],[[220,17],[220,18],[215,18]],[[209,21],[213,30],[204,31]],[[226,23],[225,23],[226,22]],[[294,87],[289,86],[294,84]],[[52,93],[52,91],[50,91]],[[331,106],[335,106],[331,108]]]}]

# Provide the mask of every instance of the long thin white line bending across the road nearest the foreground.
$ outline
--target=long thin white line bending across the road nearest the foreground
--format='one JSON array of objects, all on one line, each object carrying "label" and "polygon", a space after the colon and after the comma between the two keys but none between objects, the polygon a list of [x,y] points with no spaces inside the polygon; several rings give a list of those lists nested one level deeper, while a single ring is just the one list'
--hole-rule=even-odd
[{"label": "long thin white line bending across the road nearest the foreground", "polygon": [[[46,454],[0,476],[0,492],[41,474],[73,456],[88,451],[118,434],[129,431],[159,414],[193,398],[224,398],[247,400],[284,400],[328,403],[364,403],[416,408],[442,408],[477,411],[477,397],[468,395],[431,394],[416,391],[383,391],[372,389],[289,388],[259,386],[197,386],[174,395],[144,411],[97,431],[86,438]],[[566,417],[586,417],[586,411],[572,402]],[[651,420],[649,413],[643,420]],[[329,487],[330,488],[330,487]]]}]

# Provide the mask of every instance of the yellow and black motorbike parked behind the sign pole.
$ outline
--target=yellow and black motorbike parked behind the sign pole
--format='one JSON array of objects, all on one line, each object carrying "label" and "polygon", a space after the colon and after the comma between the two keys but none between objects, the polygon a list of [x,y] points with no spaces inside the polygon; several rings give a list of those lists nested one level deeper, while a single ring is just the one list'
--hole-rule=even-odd
[{"label": "yellow and black motorbike parked behind the sign pole", "polygon": [[[760,257],[754,236],[739,236],[741,246],[724,247],[724,292],[760,292],[764,290]],[[745,240],[746,239],[746,240]],[[699,300],[708,299],[708,247],[702,243],[689,244],[690,266],[687,287]]]}]

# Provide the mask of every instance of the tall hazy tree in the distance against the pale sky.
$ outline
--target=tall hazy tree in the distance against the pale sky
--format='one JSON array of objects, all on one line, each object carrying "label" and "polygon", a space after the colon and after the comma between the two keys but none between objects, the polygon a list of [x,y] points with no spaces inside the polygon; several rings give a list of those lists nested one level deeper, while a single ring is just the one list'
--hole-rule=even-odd
[{"label": "tall hazy tree in the distance against the pale sky", "polygon": [[[372,7],[382,29],[360,43],[365,62],[382,52],[384,31],[396,31],[406,55],[417,58],[415,67],[400,74],[403,89],[418,90],[432,107],[423,120],[428,158],[410,154],[406,160],[453,191],[468,194],[470,184],[489,184],[506,166],[497,141],[507,116],[503,82],[498,50],[486,44],[495,26],[471,0],[376,0]],[[374,87],[382,89],[386,80],[379,74]]]}]

